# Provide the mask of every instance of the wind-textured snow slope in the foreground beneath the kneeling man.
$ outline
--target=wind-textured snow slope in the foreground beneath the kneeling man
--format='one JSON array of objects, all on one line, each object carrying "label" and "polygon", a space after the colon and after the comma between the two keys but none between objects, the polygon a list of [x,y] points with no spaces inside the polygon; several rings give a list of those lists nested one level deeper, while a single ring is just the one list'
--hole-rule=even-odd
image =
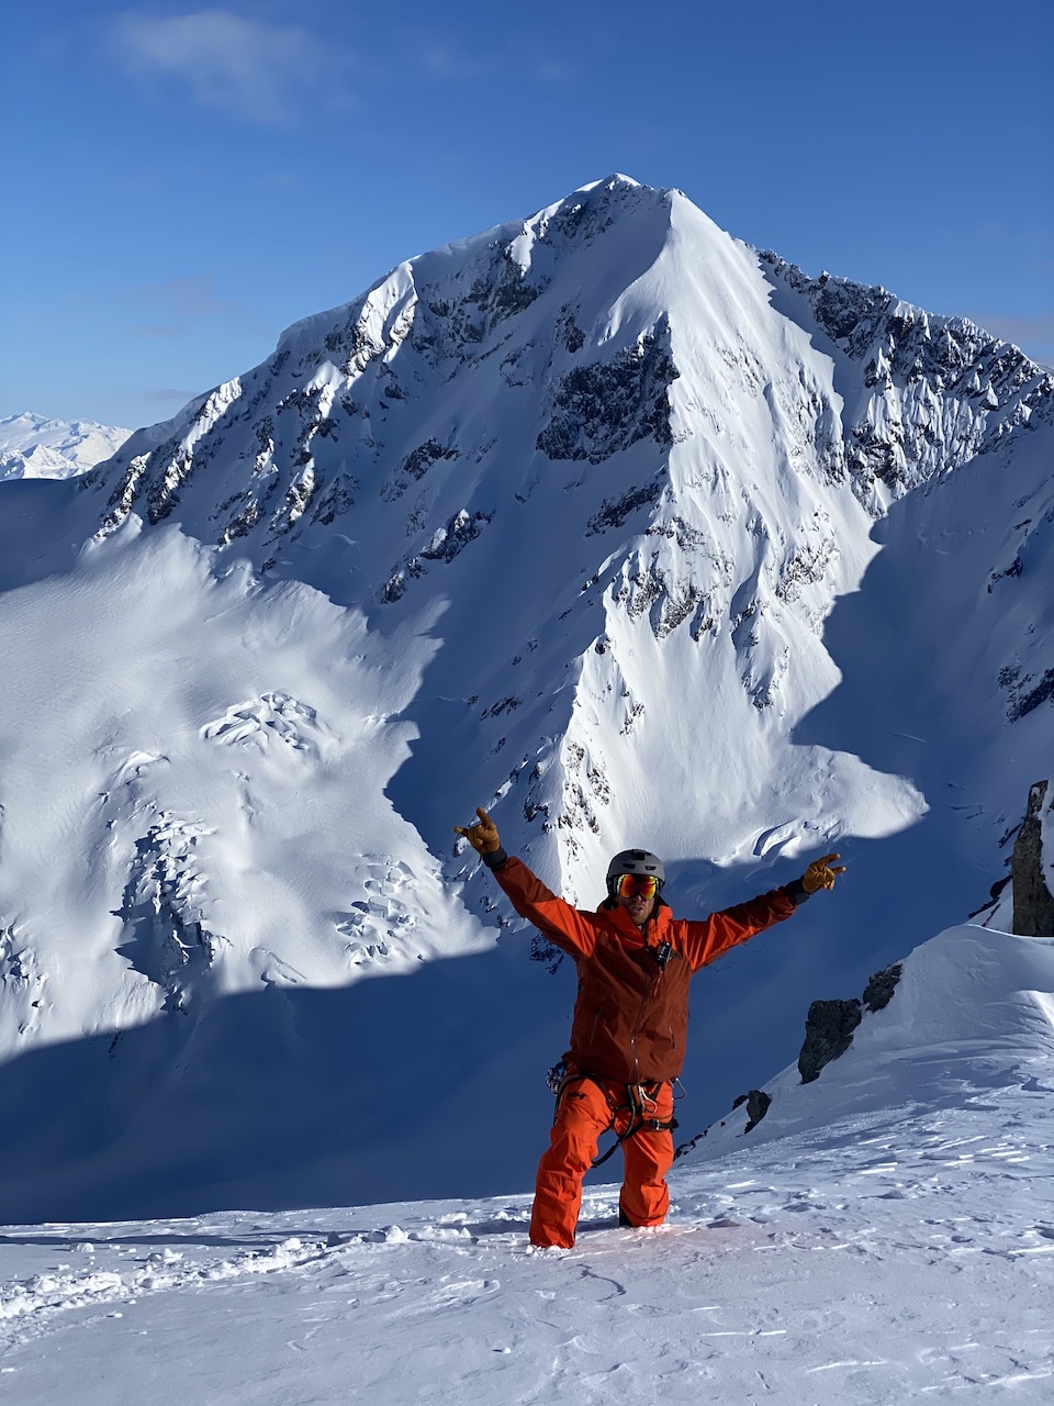
[{"label": "wind-textured snow slope in the foreground beneath the kneeling man", "polygon": [[0,1233],[20,1406],[1050,1400],[1054,942],[957,928],[814,1084],[673,1171],[661,1230],[586,1197]]}]

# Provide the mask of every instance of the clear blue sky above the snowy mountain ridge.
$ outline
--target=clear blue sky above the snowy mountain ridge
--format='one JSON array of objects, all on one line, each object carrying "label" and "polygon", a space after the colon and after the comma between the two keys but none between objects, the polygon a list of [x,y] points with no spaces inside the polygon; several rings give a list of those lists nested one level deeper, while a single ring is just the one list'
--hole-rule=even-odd
[{"label": "clear blue sky above the snowy mountain ridge", "polygon": [[4,48],[0,415],[164,419],[614,170],[1054,361],[1048,0],[52,0]]}]

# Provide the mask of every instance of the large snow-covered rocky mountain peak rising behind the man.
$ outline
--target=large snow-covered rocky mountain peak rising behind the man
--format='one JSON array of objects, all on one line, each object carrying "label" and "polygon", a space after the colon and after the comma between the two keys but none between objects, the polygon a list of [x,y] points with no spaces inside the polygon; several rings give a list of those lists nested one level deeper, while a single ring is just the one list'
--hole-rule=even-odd
[{"label": "large snow-covered rocky mountain peak rising behind the man", "polygon": [[495,945],[481,803],[583,904],[627,844],[680,911],[843,852],[700,979],[704,1126],[999,877],[1050,773],[1053,419],[972,323],[611,177],[7,485],[8,1202],[519,1184],[572,984]]}]

